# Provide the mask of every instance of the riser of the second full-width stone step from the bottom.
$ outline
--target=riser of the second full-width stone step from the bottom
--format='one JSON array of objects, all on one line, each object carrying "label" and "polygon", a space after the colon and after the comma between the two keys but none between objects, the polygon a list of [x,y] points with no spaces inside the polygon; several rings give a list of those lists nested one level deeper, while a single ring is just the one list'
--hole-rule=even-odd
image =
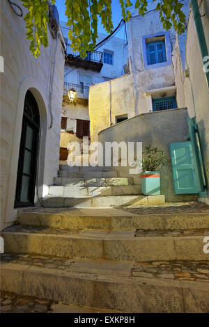
[{"label": "riser of the second full-width stone step from the bottom", "polygon": [[160,260],[208,260],[203,252],[203,236],[195,237],[71,237],[61,234],[26,232],[3,233],[5,252],[50,255],[54,257],[86,257],[107,260],[150,262]]}]

